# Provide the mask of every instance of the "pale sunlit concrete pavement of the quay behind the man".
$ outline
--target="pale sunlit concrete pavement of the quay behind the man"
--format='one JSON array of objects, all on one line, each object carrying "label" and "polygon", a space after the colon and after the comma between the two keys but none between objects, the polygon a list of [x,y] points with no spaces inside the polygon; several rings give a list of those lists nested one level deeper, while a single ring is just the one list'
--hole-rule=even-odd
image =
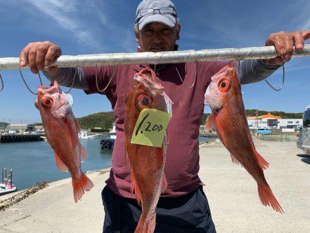
[{"label": "pale sunlit concrete pavement of the quay behind the man", "polygon": [[[204,143],[199,175],[217,232],[310,232],[310,156],[302,154],[295,141],[254,138],[254,144],[270,163],[265,177],[285,214],[260,203],[256,182],[231,163],[222,143]],[[87,176],[94,188],[79,203],[74,203],[71,179],[55,181],[1,210],[0,232],[102,232],[101,190],[108,169]],[[0,207],[8,197],[0,196]]]}]

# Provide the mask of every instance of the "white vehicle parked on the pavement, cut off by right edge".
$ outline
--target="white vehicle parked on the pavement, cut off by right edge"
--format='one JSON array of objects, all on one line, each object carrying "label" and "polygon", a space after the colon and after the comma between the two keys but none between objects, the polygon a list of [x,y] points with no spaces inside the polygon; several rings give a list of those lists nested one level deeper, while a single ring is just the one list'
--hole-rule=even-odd
[{"label": "white vehicle parked on the pavement, cut off by right edge", "polygon": [[310,154],[310,105],[307,106],[302,117],[302,129],[300,129],[297,147],[303,150],[304,154]]}]

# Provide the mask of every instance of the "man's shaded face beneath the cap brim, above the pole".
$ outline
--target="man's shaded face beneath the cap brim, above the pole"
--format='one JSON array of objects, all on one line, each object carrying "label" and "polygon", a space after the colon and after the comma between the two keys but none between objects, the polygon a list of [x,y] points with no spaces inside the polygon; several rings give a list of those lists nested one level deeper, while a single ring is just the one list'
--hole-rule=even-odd
[{"label": "man's shaded face beneath the cap brim, above the pole", "polygon": [[136,33],[136,42],[140,43],[142,52],[173,51],[176,40],[180,39],[179,30],[163,23],[149,23]]}]

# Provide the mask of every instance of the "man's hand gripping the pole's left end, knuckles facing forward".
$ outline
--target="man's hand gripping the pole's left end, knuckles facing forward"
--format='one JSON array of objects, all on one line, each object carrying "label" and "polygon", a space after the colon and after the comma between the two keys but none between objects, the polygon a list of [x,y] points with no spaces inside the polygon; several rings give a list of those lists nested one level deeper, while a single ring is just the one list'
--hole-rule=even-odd
[{"label": "man's hand gripping the pole's left end, knuckles facing forward", "polygon": [[[52,65],[59,56],[61,56],[61,48],[50,41],[28,43],[21,50],[19,65],[23,67],[29,64],[31,72],[37,74],[39,70]],[[56,74],[57,70],[56,67],[50,67],[48,73]]]}]

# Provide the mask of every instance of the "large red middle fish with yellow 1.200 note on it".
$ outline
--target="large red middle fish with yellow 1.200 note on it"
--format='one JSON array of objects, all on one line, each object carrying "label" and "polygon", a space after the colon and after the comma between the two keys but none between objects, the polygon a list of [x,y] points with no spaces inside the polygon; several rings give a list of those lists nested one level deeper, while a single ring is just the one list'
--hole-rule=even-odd
[{"label": "large red middle fish with yellow 1.200 note on it", "polygon": [[131,192],[142,205],[142,212],[135,233],[154,232],[156,205],[167,188],[164,174],[167,136],[162,147],[131,143],[134,126],[143,109],[171,112],[171,100],[163,86],[156,80],[154,71],[145,68],[134,75],[132,87],[125,97],[125,149],[131,171]]}]

